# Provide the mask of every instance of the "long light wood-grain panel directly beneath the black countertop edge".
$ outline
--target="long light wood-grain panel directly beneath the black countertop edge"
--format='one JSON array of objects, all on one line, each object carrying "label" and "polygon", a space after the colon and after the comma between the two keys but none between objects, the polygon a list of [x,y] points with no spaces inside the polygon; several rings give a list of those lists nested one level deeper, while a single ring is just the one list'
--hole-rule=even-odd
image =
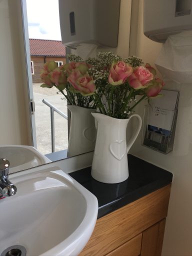
[{"label": "long light wood-grain panel directly beneath the black countertop edge", "polygon": [[169,194],[170,184],[99,218],[79,255],[105,255],[165,218]]}]

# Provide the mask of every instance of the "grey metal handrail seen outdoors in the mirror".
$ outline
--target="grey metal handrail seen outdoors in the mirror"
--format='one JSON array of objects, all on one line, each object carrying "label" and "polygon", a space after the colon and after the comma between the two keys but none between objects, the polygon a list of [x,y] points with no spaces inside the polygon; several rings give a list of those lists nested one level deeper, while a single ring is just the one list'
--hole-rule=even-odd
[{"label": "grey metal handrail seen outdoors in the mirror", "polygon": [[54,111],[67,119],[67,115],[61,112],[58,108],[49,103],[46,99],[42,100],[42,103],[50,107],[50,127],[51,127],[51,151],[55,151],[55,139],[54,139]]}]

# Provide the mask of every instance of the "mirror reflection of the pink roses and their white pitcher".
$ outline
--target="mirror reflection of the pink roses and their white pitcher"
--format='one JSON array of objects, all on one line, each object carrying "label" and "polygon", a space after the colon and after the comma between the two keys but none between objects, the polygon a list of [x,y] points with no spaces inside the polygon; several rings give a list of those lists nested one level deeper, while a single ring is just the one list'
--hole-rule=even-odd
[{"label": "mirror reflection of the pink roses and their white pitcher", "polygon": [[95,91],[92,78],[88,75],[89,64],[80,57],[69,56],[70,63],[57,66],[56,62],[44,64],[41,87],[56,87],[67,100],[70,111],[70,132],[67,156],[94,150],[96,129],[91,112],[96,111],[96,103],[91,95]]}]

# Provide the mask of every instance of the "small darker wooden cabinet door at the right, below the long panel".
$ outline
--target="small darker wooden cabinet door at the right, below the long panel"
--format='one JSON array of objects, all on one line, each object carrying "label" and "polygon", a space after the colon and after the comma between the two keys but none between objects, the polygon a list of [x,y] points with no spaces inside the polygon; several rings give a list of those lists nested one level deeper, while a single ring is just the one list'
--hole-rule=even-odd
[{"label": "small darker wooden cabinet door at the right, below the long panel", "polygon": [[140,256],[160,256],[164,235],[165,218],[142,232]]}]

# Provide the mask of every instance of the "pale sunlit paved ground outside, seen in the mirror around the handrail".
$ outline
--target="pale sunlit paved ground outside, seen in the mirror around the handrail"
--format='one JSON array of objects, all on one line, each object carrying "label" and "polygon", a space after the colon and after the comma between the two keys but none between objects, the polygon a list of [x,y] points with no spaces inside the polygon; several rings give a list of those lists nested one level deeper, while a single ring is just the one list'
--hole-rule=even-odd
[{"label": "pale sunlit paved ground outside, seen in the mirror around the handrail", "polygon": [[[42,103],[46,99],[63,113],[67,114],[66,101],[61,99],[62,94],[57,94],[57,89],[42,88],[41,83],[33,83],[35,102],[35,126],[37,149],[43,153],[51,152],[50,108]],[[67,120],[54,112],[55,151],[66,149],[68,146]]]}]

